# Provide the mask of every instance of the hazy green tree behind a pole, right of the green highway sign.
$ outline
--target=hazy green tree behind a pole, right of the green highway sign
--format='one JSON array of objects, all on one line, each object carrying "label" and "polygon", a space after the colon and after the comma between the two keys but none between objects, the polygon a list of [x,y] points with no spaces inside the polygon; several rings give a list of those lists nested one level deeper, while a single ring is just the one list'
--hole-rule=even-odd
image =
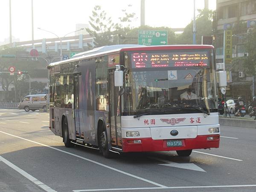
[{"label": "hazy green tree behind a pole, right of the green highway sign", "polygon": [[[199,14],[195,21],[196,26],[196,43],[201,44],[201,37],[212,35],[213,11],[209,9],[198,9]],[[193,43],[193,20],[185,27],[184,32],[177,38],[179,44]]]}]

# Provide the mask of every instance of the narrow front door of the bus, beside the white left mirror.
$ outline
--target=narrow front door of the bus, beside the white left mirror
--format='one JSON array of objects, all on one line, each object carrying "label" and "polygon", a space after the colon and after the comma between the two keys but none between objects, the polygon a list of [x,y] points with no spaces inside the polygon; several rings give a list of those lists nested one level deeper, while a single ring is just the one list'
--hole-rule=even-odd
[{"label": "narrow front door of the bus, beside the white left mirror", "polygon": [[121,96],[119,96],[119,87],[114,84],[114,71],[109,70],[109,119],[111,125],[111,144],[122,147],[122,134],[121,134]]}]

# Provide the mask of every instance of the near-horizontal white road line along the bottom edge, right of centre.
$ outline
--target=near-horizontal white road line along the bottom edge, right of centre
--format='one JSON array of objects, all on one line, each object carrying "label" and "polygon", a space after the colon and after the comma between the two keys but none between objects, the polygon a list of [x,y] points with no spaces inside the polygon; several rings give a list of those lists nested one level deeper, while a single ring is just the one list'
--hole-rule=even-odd
[{"label": "near-horizontal white road line along the bottom edge, right of centre", "polygon": [[142,189],[197,189],[197,188],[226,188],[226,187],[255,187],[256,185],[219,185],[219,186],[176,186],[176,187],[141,187],[141,188],[119,188],[119,189],[84,189],[73,190],[73,192],[82,191],[122,191],[122,190],[142,190]]}]

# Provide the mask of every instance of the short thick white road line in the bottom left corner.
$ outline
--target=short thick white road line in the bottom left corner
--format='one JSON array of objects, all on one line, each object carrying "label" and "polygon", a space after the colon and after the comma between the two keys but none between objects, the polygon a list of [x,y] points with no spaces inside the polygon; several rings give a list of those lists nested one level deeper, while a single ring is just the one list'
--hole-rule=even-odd
[{"label": "short thick white road line in the bottom left corner", "polygon": [[45,185],[44,183],[42,183],[40,180],[33,177],[32,175],[29,175],[27,172],[25,172],[22,169],[20,169],[19,167],[15,166],[13,163],[6,160],[2,156],[0,156],[0,160],[3,161],[3,163],[5,163],[9,167],[11,167],[12,169],[14,169],[15,171],[17,171],[18,173],[20,173],[21,175],[23,175],[24,177],[26,177],[27,179],[29,179],[30,181],[32,181],[33,183],[35,183],[36,185],[38,185],[39,187],[41,187],[42,189],[44,189],[45,191],[47,191],[47,192],[56,192],[55,190],[53,190],[49,186]]}]

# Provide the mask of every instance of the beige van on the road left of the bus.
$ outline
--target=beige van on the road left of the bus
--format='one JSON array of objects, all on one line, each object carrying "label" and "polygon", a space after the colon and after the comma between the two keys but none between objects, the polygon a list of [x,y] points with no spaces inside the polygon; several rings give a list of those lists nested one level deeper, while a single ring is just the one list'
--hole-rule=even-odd
[{"label": "beige van on the road left of the bus", "polygon": [[46,109],[47,94],[27,95],[19,103],[18,108],[25,111],[35,111],[37,109]]}]

